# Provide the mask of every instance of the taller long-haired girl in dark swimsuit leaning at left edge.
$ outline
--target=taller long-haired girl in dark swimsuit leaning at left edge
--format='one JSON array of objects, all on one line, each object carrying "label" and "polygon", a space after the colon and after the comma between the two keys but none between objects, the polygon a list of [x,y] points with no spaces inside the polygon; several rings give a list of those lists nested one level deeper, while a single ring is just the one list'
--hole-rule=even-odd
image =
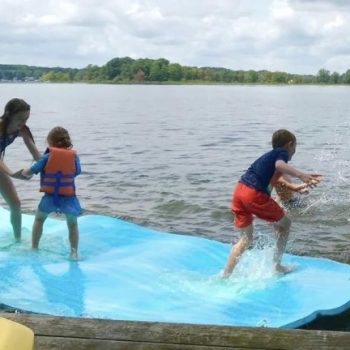
[{"label": "taller long-haired girl in dark swimsuit leaning at left edge", "polygon": [[5,149],[17,137],[22,137],[24,144],[36,160],[40,153],[35,146],[30,129],[26,125],[30,106],[24,100],[13,98],[7,102],[4,114],[0,117],[0,194],[10,208],[11,224],[16,241],[21,239],[22,212],[21,202],[11,180],[13,178],[27,179],[21,172],[13,172],[4,163]]}]

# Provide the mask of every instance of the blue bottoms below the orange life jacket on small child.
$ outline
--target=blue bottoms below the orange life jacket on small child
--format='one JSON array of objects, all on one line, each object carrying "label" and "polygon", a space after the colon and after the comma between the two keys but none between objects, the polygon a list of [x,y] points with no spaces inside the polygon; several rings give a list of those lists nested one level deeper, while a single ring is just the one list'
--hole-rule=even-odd
[{"label": "blue bottoms below the orange life jacket on small child", "polygon": [[44,213],[59,212],[79,216],[82,212],[79,199],[76,196],[57,196],[45,193],[38,209]]}]

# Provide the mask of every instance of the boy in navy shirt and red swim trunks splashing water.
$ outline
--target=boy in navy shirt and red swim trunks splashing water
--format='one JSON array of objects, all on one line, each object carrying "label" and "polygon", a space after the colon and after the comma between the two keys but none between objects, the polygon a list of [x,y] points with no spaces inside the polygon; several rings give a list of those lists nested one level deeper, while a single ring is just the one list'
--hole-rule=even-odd
[{"label": "boy in navy shirt and red swim trunks splashing water", "polygon": [[[224,277],[230,276],[238,258],[253,239],[253,216],[274,223],[276,231],[276,252],[274,267],[278,272],[286,272],[281,265],[291,220],[284,210],[271,198],[270,183],[281,174],[298,177],[306,184],[320,182],[319,174],[307,174],[288,165],[296,148],[296,137],[285,129],[272,135],[272,150],[258,158],[241,177],[233,193],[231,209],[235,214],[234,225],[240,229],[241,237],[232,247],[224,269]],[[272,183],[273,186],[273,183]]]}]

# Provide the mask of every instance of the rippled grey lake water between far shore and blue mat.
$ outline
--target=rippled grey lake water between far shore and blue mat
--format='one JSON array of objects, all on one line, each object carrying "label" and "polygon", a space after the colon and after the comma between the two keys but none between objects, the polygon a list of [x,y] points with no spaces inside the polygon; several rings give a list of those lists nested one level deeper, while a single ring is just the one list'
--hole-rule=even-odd
[{"label": "rippled grey lake water between far shore and blue mat", "polygon": [[[238,235],[229,209],[235,182],[270,149],[274,130],[290,129],[298,140],[291,164],[324,181],[290,213],[287,250],[350,263],[348,87],[1,84],[0,96],[1,106],[12,97],[30,103],[40,150],[52,127],[70,131],[86,213],[223,242]],[[30,165],[21,140],[5,161],[13,170]],[[36,209],[38,181],[15,180],[24,212]],[[271,237],[270,225],[255,227]]]}]

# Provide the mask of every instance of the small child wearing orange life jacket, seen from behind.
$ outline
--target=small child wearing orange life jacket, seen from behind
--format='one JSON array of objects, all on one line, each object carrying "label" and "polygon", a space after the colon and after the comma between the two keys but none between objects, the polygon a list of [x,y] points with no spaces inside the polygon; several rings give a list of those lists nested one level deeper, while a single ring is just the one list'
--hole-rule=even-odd
[{"label": "small child wearing orange life jacket, seen from behind", "polygon": [[40,192],[44,192],[37,212],[32,231],[32,248],[38,249],[43,232],[43,225],[51,212],[61,212],[66,216],[70,256],[78,258],[78,216],[81,207],[75,195],[74,178],[81,173],[79,156],[72,149],[69,133],[62,127],[53,128],[48,136],[49,147],[45,153],[22,175],[31,177],[40,172]]}]

